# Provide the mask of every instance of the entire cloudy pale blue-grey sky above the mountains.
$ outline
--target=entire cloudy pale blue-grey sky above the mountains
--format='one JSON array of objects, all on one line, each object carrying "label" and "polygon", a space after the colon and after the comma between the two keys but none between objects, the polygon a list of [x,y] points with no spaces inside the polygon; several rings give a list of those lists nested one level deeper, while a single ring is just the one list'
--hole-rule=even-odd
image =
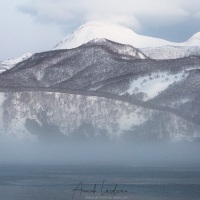
[{"label": "entire cloudy pale blue-grey sky above the mountains", "polygon": [[81,24],[109,21],[182,42],[200,31],[199,0],[0,1],[0,60],[52,49]]}]

